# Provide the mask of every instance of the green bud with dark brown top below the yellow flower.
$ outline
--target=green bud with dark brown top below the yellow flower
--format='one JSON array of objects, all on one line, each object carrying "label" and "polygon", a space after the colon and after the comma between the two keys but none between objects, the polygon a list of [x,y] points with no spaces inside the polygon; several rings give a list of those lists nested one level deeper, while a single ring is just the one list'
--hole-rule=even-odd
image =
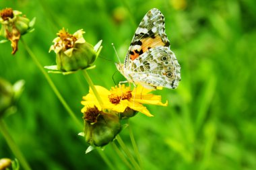
[{"label": "green bud with dark brown top below the yellow flower", "polygon": [[91,146],[108,144],[121,130],[117,114],[99,111],[95,106],[84,112],[84,122],[84,137]]}]

